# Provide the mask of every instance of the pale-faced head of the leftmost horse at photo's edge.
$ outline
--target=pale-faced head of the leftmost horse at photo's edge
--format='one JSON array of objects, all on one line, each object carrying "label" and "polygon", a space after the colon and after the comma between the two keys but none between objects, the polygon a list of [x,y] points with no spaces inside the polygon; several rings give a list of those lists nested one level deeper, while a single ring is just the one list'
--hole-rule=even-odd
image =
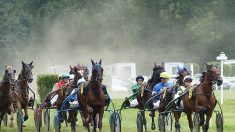
[{"label": "pale-faced head of the leftmost horse at photo's edge", "polygon": [[16,70],[12,66],[5,66],[3,82],[13,83],[15,81]]}]

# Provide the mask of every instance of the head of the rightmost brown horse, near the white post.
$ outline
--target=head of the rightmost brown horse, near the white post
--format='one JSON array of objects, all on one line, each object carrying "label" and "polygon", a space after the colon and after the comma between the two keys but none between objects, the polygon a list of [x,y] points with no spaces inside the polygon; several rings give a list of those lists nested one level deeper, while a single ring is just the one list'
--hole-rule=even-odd
[{"label": "head of the rightmost brown horse, near the white post", "polygon": [[206,63],[206,69],[207,69],[206,75],[208,76],[209,81],[212,83],[217,83],[218,86],[222,85],[223,79],[217,67],[214,66],[213,64],[208,65]]}]

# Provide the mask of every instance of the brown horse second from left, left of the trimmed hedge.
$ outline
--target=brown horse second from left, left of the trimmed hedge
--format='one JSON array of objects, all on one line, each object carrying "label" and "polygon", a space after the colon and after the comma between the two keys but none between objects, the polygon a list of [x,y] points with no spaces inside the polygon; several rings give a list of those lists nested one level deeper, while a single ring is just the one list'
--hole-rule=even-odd
[{"label": "brown horse second from left, left of the trimmed hedge", "polygon": [[[24,109],[24,121],[28,119],[28,102],[29,102],[29,85],[33,81],[33,61],[29,64],[26,64],[22,61],[22,69],[16,80],[15,91],[17,94],[16,104],[18,109]],[[20,106],[18,104],[20,103]]]}]

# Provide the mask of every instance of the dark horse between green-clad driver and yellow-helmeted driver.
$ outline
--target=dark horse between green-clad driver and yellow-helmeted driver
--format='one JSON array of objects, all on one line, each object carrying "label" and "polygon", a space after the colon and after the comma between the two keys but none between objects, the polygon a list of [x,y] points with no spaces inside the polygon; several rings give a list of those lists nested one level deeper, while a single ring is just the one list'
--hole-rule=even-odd
[{"label": "dark horse between green-clad driver and yellow-helmeted driver", "polygon": [[[144,119],[143,124],[145,127],[145,131],[147,131],[147,123],[146,123],[145,113],[142,110],[144,110],[146,102],[152,97],[153,87],[157,83],[161,82],[160,74],[164,71],[165,70],[164,70],[163,66],[156,65],[156,63],[154,63],[153,74],[152,74],[151,78],[148,80],[147,84],[144,83],[143,85],[141,85],[138,88],[139,92],[137,93],[137,101],[138,101],[137,108],[139,110],[141,110],[141,113],[142,113],[142,116]],[[154,123],[155,112],[151,111],[150,116],[152,118],[151,128],[155,129],[155,123]]]}]

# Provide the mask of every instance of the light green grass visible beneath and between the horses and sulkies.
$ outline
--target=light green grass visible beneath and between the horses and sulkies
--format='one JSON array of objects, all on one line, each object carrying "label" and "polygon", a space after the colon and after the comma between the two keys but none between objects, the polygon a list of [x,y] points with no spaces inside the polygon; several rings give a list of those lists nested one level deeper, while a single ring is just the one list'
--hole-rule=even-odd
[{"label": "light green grass visible beneath and between the horses and sulkies", "polygon": [[[222,105],[223,114],[224,114],[224,131],[225,132],[232,132],[235,130],[235,91],[232,91],[230,93],[229,90],[224,91],[224,104]],[[220,102],[220,91],[216,91],[216,97]],[[124,99],[114,99],[116,108],[120,108],[121,103],[124,101]],[[216,110],[219,110],[219,107],[216,107]],[[33,111],[30,111],[30,117],[28,121],[26,122],[26,127],[23,128],[24,132],[35,132],[34,127],[34,121],[33,121]],[[137,109],[125,109],[122,110],[122,132],[136,132],[136,115],[137,115]],[[149,112],[146,113],[148,115]],[[15,116],[14,116],[15,117]],[[52,120],[53,120],[53,112],[51,112],[51,129],[52,132]],[[79,132],[86,132],[86,129],[83,128],[81,119],[78,117],[78,125],[76,126],[77,131]],[[157,126],[157,117],[155,118],[155,123]],[[150,131],[150,118],[147,116],[147,126],[148,130]],[[181,128],[182,132],[188,132],[188,123],[185,114],[182,115],[181,120]],[[215,132],[215,115],[212,116],[209,132]],[[42,132],[45,131],[44,127],[41,128]],[[16,121],[14,120],[14,127],[9,128],[2,126],[1,132],[15,132],[17,131]],[[103,132],[109,132],[109,113],[105,112],[104,119],[103,119]],[[157,131],[157,130],[155,130]],[[65,124],[62,126],[62,132],[70,132],[70,127],[65,127]],[[153,132],[153,131],[150,131]]]}]

